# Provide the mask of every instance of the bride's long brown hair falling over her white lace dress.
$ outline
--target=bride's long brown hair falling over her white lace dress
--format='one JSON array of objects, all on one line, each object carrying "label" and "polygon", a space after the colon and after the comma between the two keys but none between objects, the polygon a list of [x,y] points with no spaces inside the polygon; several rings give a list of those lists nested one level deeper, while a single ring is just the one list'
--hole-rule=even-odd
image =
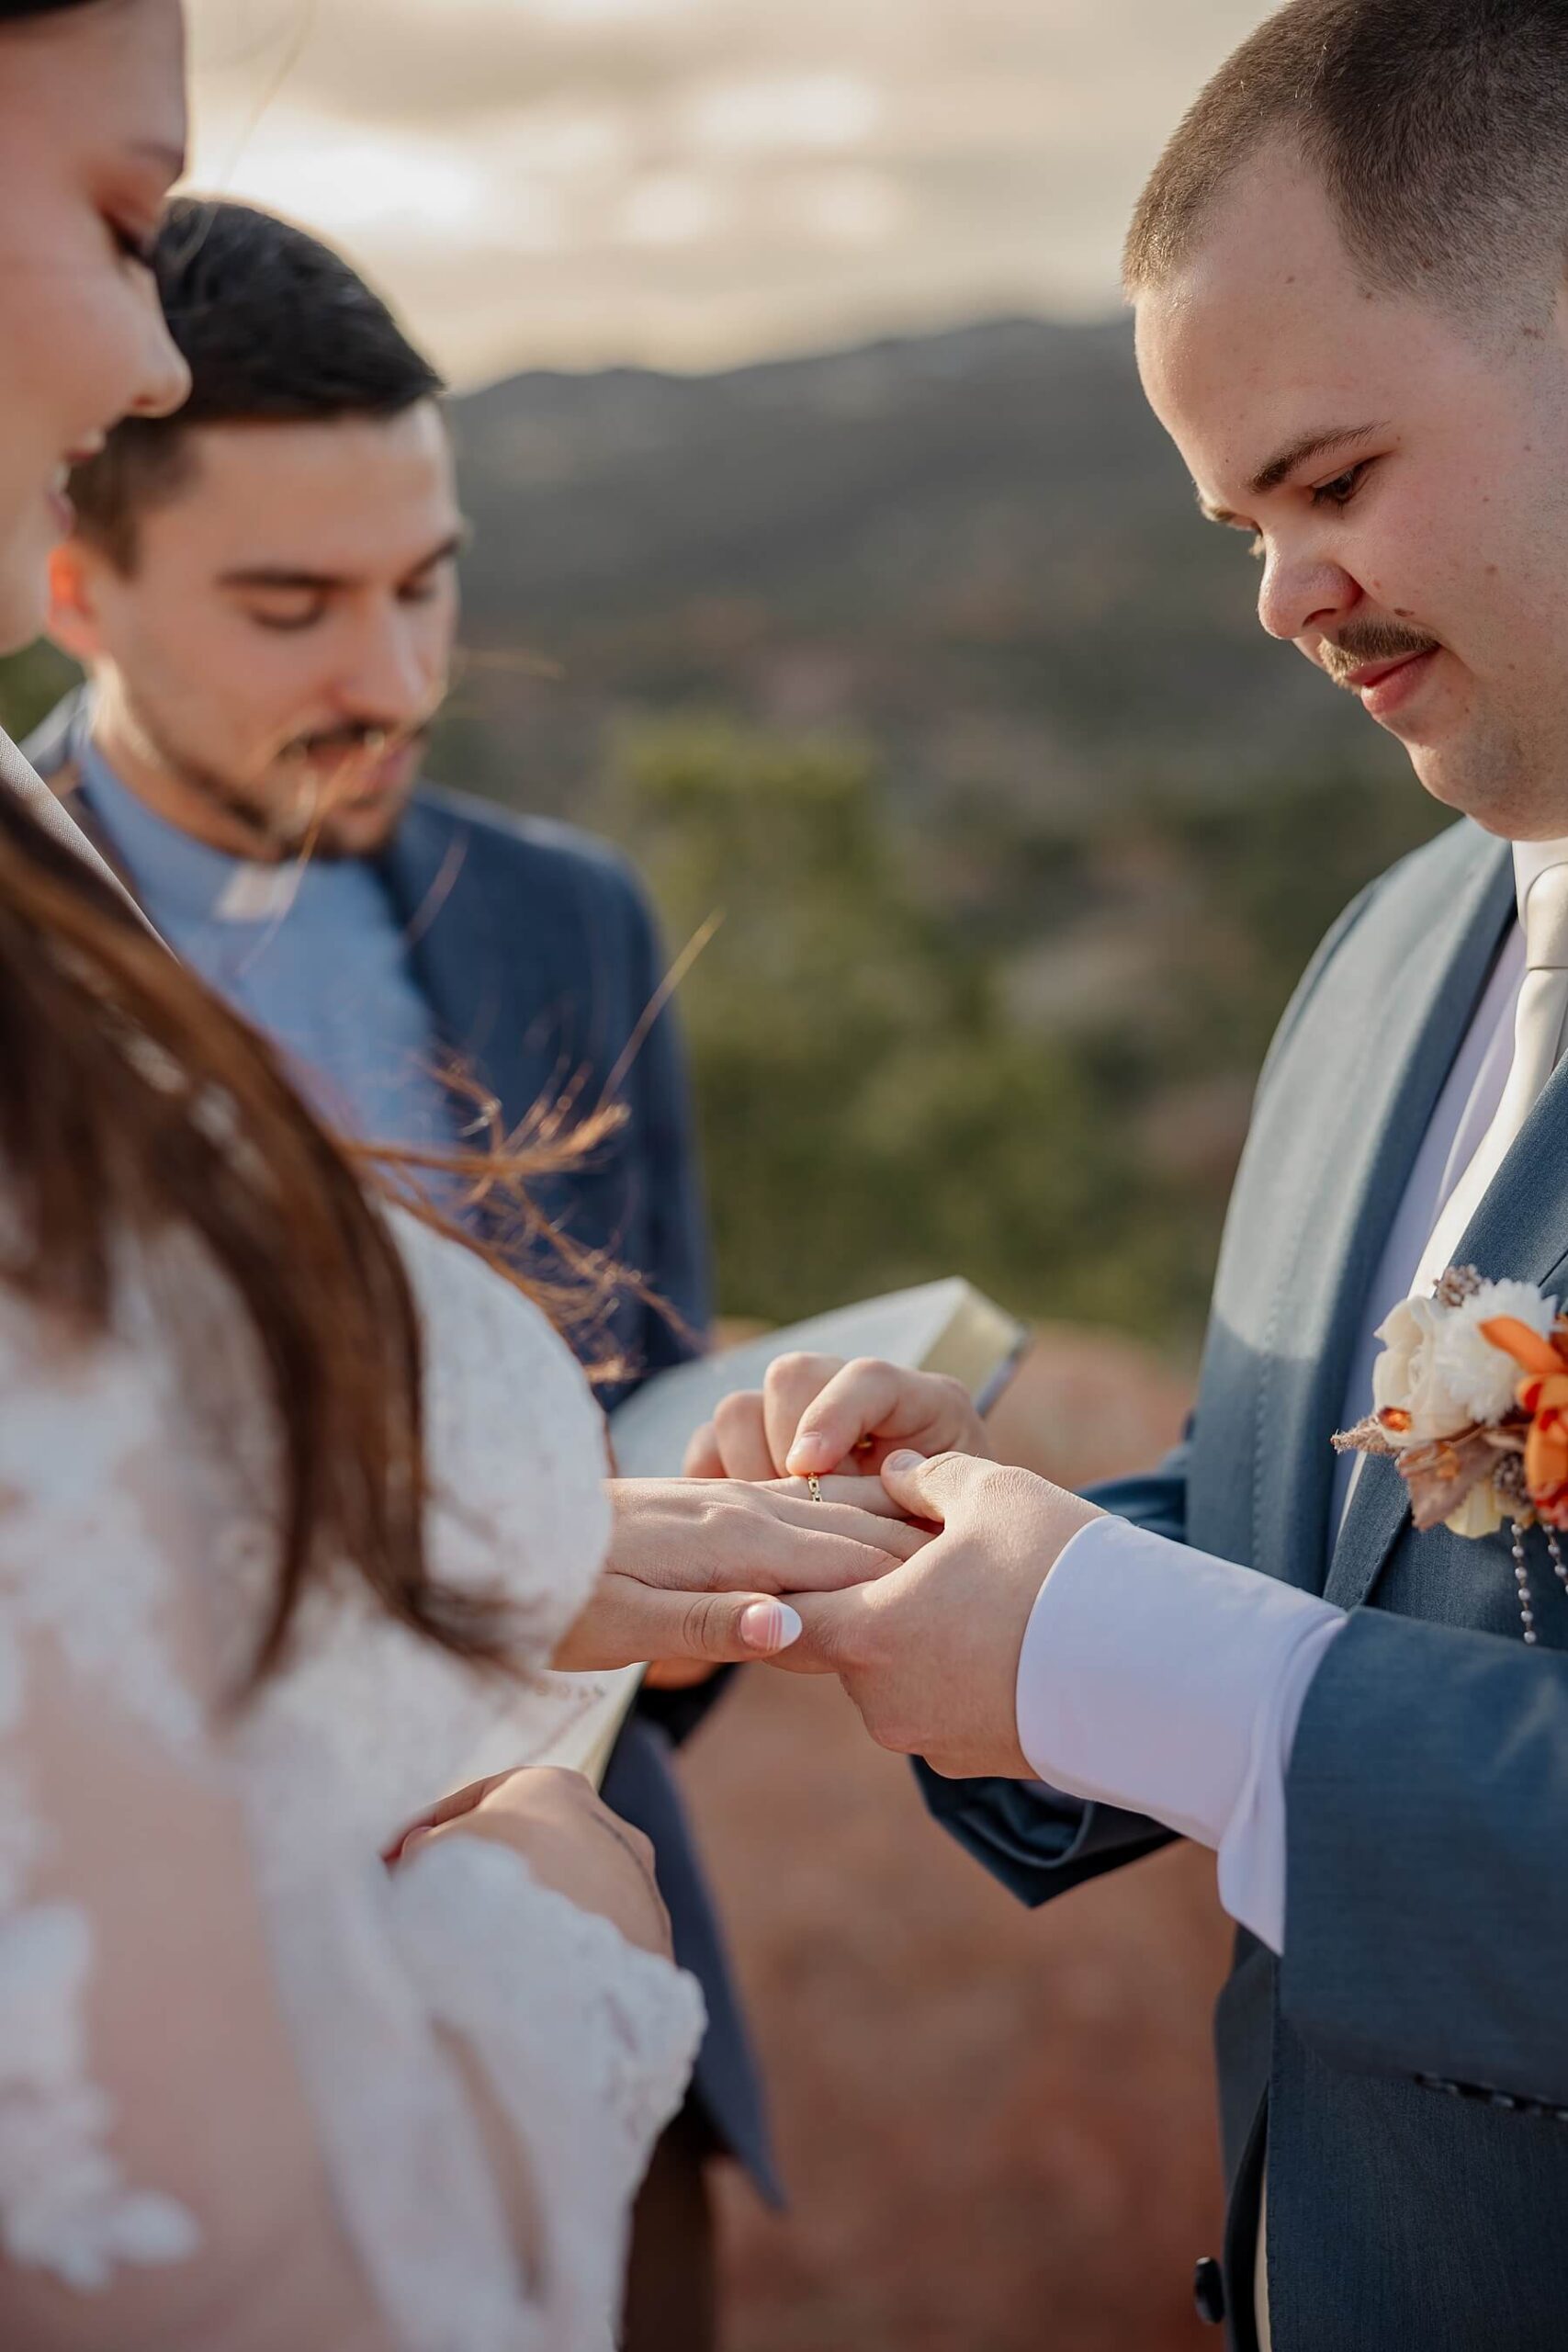
[{"label": "bride's long brown hair falling over her white lace dress", "polygon": [[[616,1112],[576,1134],[543,1122],[529,1150],[444,1164],[517,1190],[614,1124]],[[0,1164],[12,1211],[0,1279],[106,1329],[115,1237],[183,1225],[235,1287],[284,1451],[252,1686],[282,1661],[301,1592],[336,1559],[428,1639],[508,1658],[498,1604],[442,1588],[425,1564],[421,1334],[364,1162],[303,1105],[273,1047],[0,788]],[[409,1207],[440,1223],[416,1190]],[[491,1263],[571,1322],[609,1284],[597,1261],[562,1251],[550,1282]]]}]

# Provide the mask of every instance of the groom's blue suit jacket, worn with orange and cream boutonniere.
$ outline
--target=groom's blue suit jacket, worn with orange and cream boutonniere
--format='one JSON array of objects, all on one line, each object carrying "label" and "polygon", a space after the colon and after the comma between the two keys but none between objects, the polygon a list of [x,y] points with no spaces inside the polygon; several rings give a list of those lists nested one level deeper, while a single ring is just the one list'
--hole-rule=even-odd
[{"label": "groom's blue suit jacket, worn with orange and cream boutonniere", "polygon": [[[1241,2352],[1265,2166],[1274,2352],[1568,2347],[1568,1595],[1530,1534],[1526,1649],[1507,1534],[1418,1536],[1387,1461],[1328,1531],[1359,1312],[1512,920],[1507,844],[1469,823],[1340,920],[1265,1065],[1187,1442],[1095,1496],[1352,1611],[1291,1755],[1286,1955],[1241,1931],[1215,2020]],[[1455,1263],[1568,1294],[1568,1063]],[[1164,1842],[924,1785],[1025,1903]]]}]

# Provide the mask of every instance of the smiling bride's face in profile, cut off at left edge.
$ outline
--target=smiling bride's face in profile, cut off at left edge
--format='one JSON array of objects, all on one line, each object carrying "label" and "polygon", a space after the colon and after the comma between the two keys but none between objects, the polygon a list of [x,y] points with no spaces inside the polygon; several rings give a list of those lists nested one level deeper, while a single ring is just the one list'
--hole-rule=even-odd
[{"label": "smiling bride's face in profile, cut off at left edge", "polygon": [[190,388],[139,259],[183,151],[181,0],[0,24],[0,649],[42,626],[66,468]]}]

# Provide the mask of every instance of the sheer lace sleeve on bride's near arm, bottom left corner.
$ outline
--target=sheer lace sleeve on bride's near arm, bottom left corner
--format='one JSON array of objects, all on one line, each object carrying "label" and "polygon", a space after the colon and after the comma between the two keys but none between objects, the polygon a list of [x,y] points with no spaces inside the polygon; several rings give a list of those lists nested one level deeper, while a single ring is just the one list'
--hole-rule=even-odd
[{"label": "sheer lace sleeve on bride's near arm, bottom left corner", "polygon": [[[7,1472],[12,1435],[0,1414]],[[242,1809],[136,1595],[136,1512],[110,1486],[45,1508],[40,1484],[7,1475],[0,1512],[0,2343],[378,2352],[395,2338],[334,2220]],[[125,1571],[134,1698],[106,1628],[49,1595],[80,1545]],[[266,2272],[275,2333],[254,2312],[230,2338],[230,2286]]]}]

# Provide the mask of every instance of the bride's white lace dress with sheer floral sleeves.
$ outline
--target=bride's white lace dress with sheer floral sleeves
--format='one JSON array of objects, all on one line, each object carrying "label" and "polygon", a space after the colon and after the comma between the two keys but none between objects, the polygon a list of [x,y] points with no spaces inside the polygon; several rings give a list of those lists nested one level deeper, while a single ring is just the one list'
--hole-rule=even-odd
[{"label": "bride's white lace dress with sheer floral sleeves", "polygon": [[529,1762],[581,1705],[543,1661],[604,1552],[604,1435],[522,1298],[414,1223],[400,1237],[428,1336],[430,1559],[510,1592],[541,1663],[524,1689],[346,1578],[287,1672],[228,1710],[277,1491],[242,1319],[193,1247],[127,1268],[113,1341],[0,1291],[7,2347],[614,2340],[696,1985],[503,1846],[381,1863],[437,1795]]}]

